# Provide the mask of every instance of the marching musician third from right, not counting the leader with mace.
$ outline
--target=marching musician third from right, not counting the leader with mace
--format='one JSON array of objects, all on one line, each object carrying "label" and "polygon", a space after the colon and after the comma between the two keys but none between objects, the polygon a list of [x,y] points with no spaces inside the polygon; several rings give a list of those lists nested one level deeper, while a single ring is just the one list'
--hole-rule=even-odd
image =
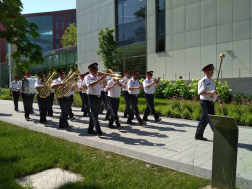
[{"label": "marching musician third from right, not counting the leader with mace", "polygon": [[[125,100],[125,110],[124,110],[124,118],[128,118],[127,123],[132,124],[132,119],[134,117],[134,112],[132,108],[130,108],[130,101],[129,101],[129,89],[128,89],[128,82],[130,80],[130,72],[129,70],[124,71],[124,78],[122,79],[122,84],[126,86],[126,88],[123,88],[123,97]],[[128,115],[128,116],[127,116]]]}]

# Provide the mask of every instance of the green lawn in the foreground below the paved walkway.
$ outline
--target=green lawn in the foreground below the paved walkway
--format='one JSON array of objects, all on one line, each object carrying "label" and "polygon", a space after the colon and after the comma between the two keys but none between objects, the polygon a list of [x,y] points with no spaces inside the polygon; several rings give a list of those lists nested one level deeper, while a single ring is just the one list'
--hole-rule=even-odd
[{"label": "green lawn in the foreground below the paved walkway", "polygon": [[199,188],[209,180],[0,121],[0,189],[16,178],[59,167],[84,177],[61,188]]}]

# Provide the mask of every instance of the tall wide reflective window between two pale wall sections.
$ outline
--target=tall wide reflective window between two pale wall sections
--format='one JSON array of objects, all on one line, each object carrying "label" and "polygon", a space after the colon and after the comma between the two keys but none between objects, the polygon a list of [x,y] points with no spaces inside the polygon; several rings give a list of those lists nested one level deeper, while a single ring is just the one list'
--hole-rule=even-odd
[{"label": "tall wide reflective window between two pale wall sections", "polygon": [[146,72],[146,0],[116,0],[120,70]]}]

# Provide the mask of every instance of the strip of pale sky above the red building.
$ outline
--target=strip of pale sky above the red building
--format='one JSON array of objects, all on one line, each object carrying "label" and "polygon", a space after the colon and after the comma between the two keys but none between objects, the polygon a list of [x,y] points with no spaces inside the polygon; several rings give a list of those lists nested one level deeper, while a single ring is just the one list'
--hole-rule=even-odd
[{"label": "strip of pale sky above the red building", "polygon": [[76,0],[21,0],[22,14],[76,9]]}]

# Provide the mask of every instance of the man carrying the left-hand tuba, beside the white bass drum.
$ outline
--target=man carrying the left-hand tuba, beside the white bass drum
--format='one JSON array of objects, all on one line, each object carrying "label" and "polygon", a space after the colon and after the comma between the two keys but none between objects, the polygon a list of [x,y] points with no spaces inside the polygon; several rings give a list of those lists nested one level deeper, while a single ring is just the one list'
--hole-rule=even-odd
[{"label": "man carrying the left-hand tuba, beside the white bass drum", "polygon": [[39,79],[35,83],[35,88],[38,90],[37,101],[38,101],[39,114],[40,114],[39,122],[46,126],[47,125],[46,112],[47,112],[47,105],[48,105],[48,97],[49,96],[46,98],[40,98],[40,96],[38,94],[42,88],[47,89],[48,86],[44,85],[44,81],[45,81],[45,73],[44,72],[39,72],[37,74],[37,76],[39,77]]}]

